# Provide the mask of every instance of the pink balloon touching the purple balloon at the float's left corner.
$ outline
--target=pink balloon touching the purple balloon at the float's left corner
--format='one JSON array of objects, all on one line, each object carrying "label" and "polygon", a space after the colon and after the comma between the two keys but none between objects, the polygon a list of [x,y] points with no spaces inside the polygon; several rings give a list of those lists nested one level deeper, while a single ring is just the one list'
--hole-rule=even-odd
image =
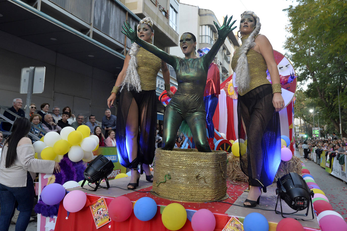
[{"label": "pink balloon touching the purple balloon at the float's left corner", "polygon": [[63,206],[66,211],[75,213],[80,211],[86,204],[87,196],[81,190],[74,190],[66,194],[63,200]]}]

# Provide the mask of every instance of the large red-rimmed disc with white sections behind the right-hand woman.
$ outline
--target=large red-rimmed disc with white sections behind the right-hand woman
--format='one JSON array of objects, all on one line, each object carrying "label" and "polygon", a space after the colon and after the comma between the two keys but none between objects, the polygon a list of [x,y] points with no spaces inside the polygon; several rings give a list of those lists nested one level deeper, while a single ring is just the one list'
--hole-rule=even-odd
[{"label": "large red-rimmed disc with white sections behind the right-hand woman", "polygon": [[[296,81],[296,75],[295,75],[295,69],[293,67],[293,64],[284,56],[283,54],[279,53],[278,51],[273,50],[273,56],[275,58],[277,69],[280,74],[280,83],[282,87],[282,97],[284,99],[285,107],[288,106],[288,104],[293,100],[297,81]],[[267,79],[269,82],[271,82],[269,71],[267,70],[266,73],[268,74]],[[235,83],[235,77],[236,73],[232,74],[232,83],[235,89],[236,94],[238,94],[237,91],[237,85]]]}]

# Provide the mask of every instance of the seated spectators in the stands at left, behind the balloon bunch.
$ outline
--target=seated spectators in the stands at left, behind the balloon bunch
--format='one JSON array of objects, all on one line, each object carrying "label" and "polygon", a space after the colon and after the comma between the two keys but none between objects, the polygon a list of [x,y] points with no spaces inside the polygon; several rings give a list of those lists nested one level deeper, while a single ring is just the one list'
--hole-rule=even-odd
[{"label": "seated spectators in the stands at left, behind the balloon bunch", "polygon": [[[8,110],[17,116],[5,111],[3,115],[11,121],[15,121],[17,117],[25,117],[25,112],[22,109],[23,101],[20,98],[16,98],[12,101],[12,107]],[[110,109],[105,110],[105,115],[101,119],[101,124],[96,123],[96,117],[94,115],[87,117],[83,114],[78,114],[77,117],[72,113],[69,106],[66,106],[60,111],[60,107],[54,106],[52,113],[49,112],[50,104],[42,103],[40,110],[36,107],[35,103],[31,103],[29,106],[29,121],[32,123],[30,133],[37,138],[43,137],[46,133],[54,131],[60,133],[62,128],[71,126],[77,129],[78,126],[86,125],[90,128],[91,135],[99,137],[99,146],[116,146],[115,130],[117,117],[111,114]],[[8,122],[2,122],[0,124],[0,131],[11,131],[12,124]],[[30,139],[34,143],[37,138],[31,136]],[[2,147],[3,133],[0,132],[0,148]]]}]

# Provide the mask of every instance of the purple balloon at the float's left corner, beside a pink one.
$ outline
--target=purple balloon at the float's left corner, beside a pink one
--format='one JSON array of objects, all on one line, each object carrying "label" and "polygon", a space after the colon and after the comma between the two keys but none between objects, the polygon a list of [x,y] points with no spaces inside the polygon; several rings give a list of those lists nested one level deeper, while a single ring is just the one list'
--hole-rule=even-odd
[{"label": "purple balloon at the float's left corner, beside a pink one", "polygon": [[46,205],[58,204],[65,197],[66,190],[61,184],[49,184],[42,189],[41,199]]}]

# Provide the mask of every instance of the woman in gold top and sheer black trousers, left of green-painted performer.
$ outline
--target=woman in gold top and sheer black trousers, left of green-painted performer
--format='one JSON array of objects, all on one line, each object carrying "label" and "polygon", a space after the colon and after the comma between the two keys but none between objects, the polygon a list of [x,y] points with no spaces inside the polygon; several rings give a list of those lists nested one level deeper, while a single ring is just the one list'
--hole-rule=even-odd
[{"label": "woman in gold top and sheer black trousers, left of green-painted performer", "polygon": [[[150,18],[143,18],[137,27],[137,36],[152,43],[154,30]],[[125,57],[123,69],[118,75],[115,87],[107,100],[108,107],[115,102],[119,93],[116,122],[116,142],[119,162],[131,169],[128,189],[138,186],[137,166],[141,163],[141,174],[152,182],[149,165],[153,162],[155,151],[156,124],[156,76],[162,70],[165,86],[170,91],[170,74],[167,64],[152,53],[133,43]]]}]

